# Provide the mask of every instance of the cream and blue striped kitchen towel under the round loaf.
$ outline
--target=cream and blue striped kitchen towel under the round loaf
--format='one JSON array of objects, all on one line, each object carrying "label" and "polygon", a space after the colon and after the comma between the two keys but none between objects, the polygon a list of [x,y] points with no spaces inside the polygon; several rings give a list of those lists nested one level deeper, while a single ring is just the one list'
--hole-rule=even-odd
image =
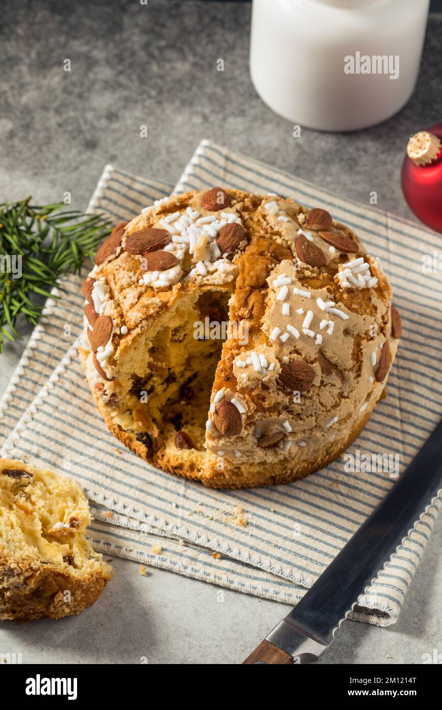
[{"label": "cream and blue striped kitchen towel under the round loaf", "polygon": [[[214,185],[276,192],[306,207],[326,207],[358,232],[392,280],[404,334],[387,398],[348,449],[353,458],[346,464],[338,459],[288,486],[210,491],[122,449],[96,412],[79,366],[74,339],[82,328],[84,301],[75,277],[64,280],[60,298],[48,302],[4,395],[2,453],[46,464],[82,484],[94,506],[96,549],[296,603],[394,485],[442,415],[434,366],[442,326],[435,301],[441,300],[442,287],[431,268],[438,236],[203,141],[175,190]],[[163,183],[108,167],[89,207],[119,222],[169,191]],[[361,461],[375,454],[365,471]],[[396,620],[440,507],[436,498],[422,511],[350,618],[382,626]]]}]

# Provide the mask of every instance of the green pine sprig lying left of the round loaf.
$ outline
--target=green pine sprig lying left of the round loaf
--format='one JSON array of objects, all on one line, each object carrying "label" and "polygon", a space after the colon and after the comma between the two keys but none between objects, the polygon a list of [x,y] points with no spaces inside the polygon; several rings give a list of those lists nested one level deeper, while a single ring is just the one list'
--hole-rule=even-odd
[{"label": "green pine sprig lying left of the round loaf", "polygon": [[0,353],[5,337],[21,338],[18,316],[35,325],[44,307],[35,303],[37,296],[48,297],[63,274],[79,274],[112,227],[101,215],[69,210],[62,202],[30,202],[0,204]]}]

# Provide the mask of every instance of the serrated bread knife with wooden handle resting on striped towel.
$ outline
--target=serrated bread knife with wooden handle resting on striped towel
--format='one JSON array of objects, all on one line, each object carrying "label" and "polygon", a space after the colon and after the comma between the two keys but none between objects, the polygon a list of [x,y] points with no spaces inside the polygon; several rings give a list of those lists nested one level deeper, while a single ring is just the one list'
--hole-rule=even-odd
[{"label": "serrated bread knife with wooden handle resting on striped towel", "polygon": [[360,595],[441,493],[442,420],[358,532],[244,663],[317,661]]}]

